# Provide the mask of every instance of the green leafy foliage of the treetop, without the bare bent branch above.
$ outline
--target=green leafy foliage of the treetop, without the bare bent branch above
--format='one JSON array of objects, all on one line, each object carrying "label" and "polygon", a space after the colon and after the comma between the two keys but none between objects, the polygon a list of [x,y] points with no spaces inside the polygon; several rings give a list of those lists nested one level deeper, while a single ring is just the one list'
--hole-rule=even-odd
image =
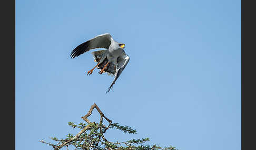
[{"label": "green leafy foliage of the treetop, without the bare bent branch above", "polygon": [[[60,145],[65,144],[66,147],[73,145],[75,149],[99,149],[99,150],[112,150],[112,149],[119,149],[119,150],[129,150],[129,149],[136,149],[136,150],[156,150],[156,149],[165,149],[165,150],[176,150],[175,147],[160,147],[157,145],[144,145],[145,142],[150,141],[149,138],[141,138],[141,139],[132,139],[125,142],[109,142],[103,135],[103,131],[105,125],[98,124],[98,123],[80,123],[75,124],[74,122],[68,122],[68,125],[72,128],[79,128],[84,129],[87,127],[87,130],[83,132],[78,138],[74,138],[73,134],[68,133],[66,138],[58,139],[56,137],[51,137],[51,140],[57,142],[57,144],[47,143],[45,141],[41,141],[42,143],[46,143],[50,146],[53,146],[54,149],[60,149]],[[118,123],[112,123],[110,128],[114,128],[116,130],[121,130],[124,133],[129,134],[137,134],[137,131],[129,126],[122,126]],[[64,146],[63,146],[64,147]]]}]

